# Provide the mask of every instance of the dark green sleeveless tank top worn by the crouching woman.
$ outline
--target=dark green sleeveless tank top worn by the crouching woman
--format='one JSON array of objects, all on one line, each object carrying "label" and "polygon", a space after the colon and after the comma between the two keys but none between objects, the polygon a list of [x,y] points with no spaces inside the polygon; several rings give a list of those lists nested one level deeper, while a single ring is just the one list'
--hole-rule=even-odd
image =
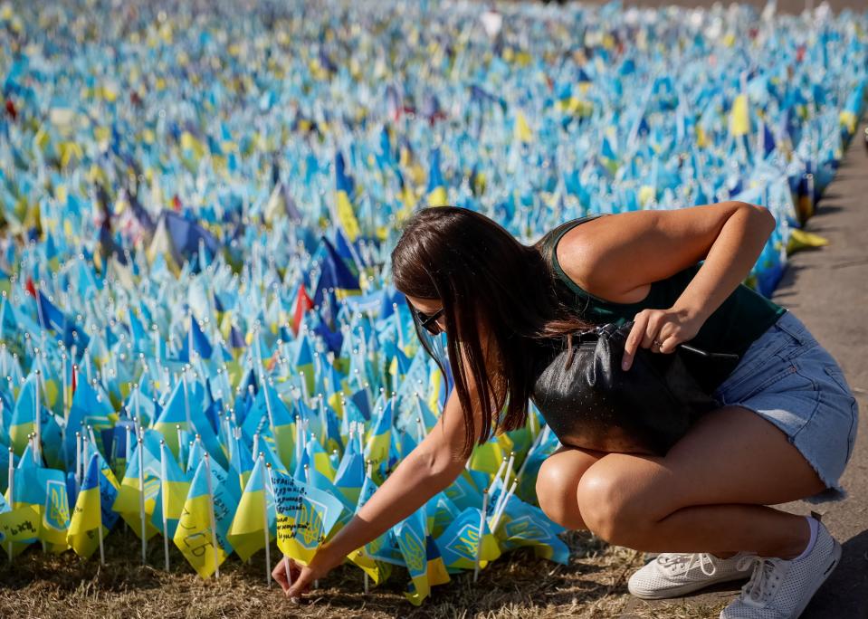
[{"label": "dark green sleeveless tank top worn by the crouching woman", "polygon": [[[635,303],[615,303],[603,300],[579,288],[575,281],[558,264],[555,251],[558,242],[569,230],[602,215],[588,215],[563,224],[563,229],[553,231],[546,245],[551,252],[551,262],[558,279],[576,294],[576,309],[581,318],[595,324],[614,322],[622,324],[634,319],[641,310],[665,310],[681,296],[682,291],[692,281],[700,264],[694,264],[661,281],[654,281],[651,290],[641,301]],[[558,226],[560,227],[560,226]],[[702,325],[699,333],[691,340],[691,345],[708,352],[735,353],[739,358],[750,344],[771,327],[786,309],[766,299],[744,284],[739,284],[729,297],[720,304],[709,319]],[[684,352],[682,357],[688,362],[693,376],[701,386],[713,391],[730,375],[738,361],[701,357],[695,353]]]}]

